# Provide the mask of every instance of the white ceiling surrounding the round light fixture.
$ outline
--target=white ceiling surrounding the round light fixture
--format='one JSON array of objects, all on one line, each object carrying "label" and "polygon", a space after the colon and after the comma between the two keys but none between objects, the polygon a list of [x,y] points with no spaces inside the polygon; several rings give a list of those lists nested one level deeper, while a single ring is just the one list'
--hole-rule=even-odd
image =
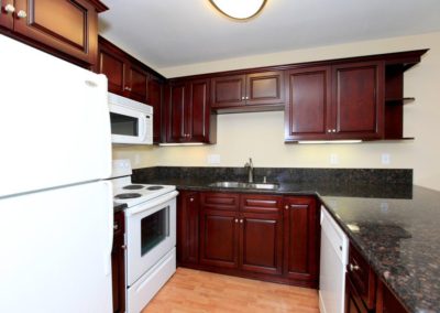
[{"label": "white ceiling surrounding the round light fixture", "polygon": [[208,0],[102,0],[100,34],[153,68],[440,31],[439,0],[267,0],[248,22]]}]

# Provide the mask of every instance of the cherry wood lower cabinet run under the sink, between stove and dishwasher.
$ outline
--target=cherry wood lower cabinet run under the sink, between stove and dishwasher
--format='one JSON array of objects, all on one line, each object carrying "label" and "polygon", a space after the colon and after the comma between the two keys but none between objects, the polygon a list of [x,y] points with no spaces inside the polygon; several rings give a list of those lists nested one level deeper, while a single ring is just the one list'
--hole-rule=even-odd
[{"label": "cherry wood lower cabinet run under the sink, between stove and dishwasher", "polygon": [[[295,201],[302,211],[284,214],[283,204]],[[183,191],[177,214],[180,266],[317,287],[315,197]]]}]

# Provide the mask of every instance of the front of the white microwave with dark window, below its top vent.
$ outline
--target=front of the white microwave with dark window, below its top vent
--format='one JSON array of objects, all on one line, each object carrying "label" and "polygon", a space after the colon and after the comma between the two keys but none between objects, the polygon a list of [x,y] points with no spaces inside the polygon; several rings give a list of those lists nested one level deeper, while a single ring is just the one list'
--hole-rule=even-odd
[{"label": "front of the white microwave with dark window, below its top vent", "polygon": [[113,143],[151,144],[152,116],[118,105],[110,105]]}]

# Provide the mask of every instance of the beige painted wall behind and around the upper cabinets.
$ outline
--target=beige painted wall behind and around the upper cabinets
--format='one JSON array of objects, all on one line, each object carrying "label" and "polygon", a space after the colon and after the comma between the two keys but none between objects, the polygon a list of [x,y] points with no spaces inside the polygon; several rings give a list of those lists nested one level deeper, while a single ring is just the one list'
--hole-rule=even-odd
[{"label": "beige painted wall behind and around the upper cabinets", "polygon": [[[116,148],[113,158],[130,158],[134,168],[209,166],[209,154],[220,155],[220,166],[242,166],[252,156],[255,166],[407,168],[415,170],[416,184],[440,190],[440,32],[160,68],[160,72],[176,77],[425,47],[430,51],[421,63],[405,74],[405,96],[416,97],[416,101],[405,106],[405,136],[415,137],[415,141],[285,144],[283,112],[234,114],[218,117],[215,145]],[[391,164],[381,163],[382,153],[391,154]],[[330,164],[331,154],[338,155],[338,164]]]}]

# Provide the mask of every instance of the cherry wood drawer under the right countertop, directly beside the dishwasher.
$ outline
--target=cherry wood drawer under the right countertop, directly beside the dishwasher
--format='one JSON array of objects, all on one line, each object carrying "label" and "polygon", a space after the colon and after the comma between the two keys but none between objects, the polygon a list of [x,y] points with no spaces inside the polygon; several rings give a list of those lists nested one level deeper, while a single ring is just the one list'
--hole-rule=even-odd
[{"label": "cherry wood drawer under the right countertop, directly beside the dishwasher", "polygon": [[360,298],[369,310],[375,306],[375,274],[366,260],[350,244],[346,272]]}]

